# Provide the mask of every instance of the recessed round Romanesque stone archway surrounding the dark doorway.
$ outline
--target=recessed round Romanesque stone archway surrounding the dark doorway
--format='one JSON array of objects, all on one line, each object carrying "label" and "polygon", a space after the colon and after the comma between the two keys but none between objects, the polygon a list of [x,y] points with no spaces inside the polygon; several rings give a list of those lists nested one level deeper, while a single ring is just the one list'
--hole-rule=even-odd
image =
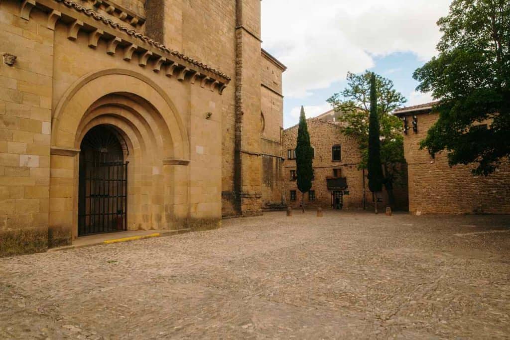
[{"label": "recessed round Romanesque stone archway surrounding the dark doorway", "polygon": [[[105,213],[111,214],[111,218],[102,220],[99,228],[94,222],[95,229],[79,231],[79,226],[87,225],[80,221],[87,215],[87,207],[79,200],[79,196],[84,195],[83,186],[80,186],[84,180],[80,179],[82,158],[87,157],[84,148],[89,142],[89,133],[99,130],[115,137],[122,148],[121,161],[129,162],[129,176],[125,178],[127,206],[121,227],[120,221],[115,224],[112,220],[118,218],[117,212],[101,208],[95,213],[99,212],[103,219]],[[53,221],[58,221],[59,226],[65,223],[73,230],[74,237],[114,231],[115,228],[171,228],[175,220],[187,217],[187,210],[180,208],[176,211],[175,208],[176,203],[180,207],[186,204],[187,190],[176,193],[175,187],[176,184],[181,188],[187,186],[188,143],[186,129],[175,106],[167,94],[146,77],[123,70],[102,71],[83,77],[60,100],[53,118],[50,195],[66,198],[72,203],[67,205],[65,212],[50,212],[50,224]],[[119,145],[116,146],[117,153]],[[68,164],[65,158],[72,158],[72,174],[54,171],[59,164]],[[62,175],[68,178],[62,178]],[[61,190],[62,184],[66,188],[72,187]],[[107,202],[106,199],[92,198]],[[90,216],[85,218],[89,218],[90,227]]]}]

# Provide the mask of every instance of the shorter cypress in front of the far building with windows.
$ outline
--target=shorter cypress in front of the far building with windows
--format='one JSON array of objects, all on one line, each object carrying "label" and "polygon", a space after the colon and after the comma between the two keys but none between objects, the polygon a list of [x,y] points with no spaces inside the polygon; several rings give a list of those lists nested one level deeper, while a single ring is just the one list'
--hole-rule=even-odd
[{"label": "shorter cypress in front of the far building with windows", "polygon": [[304,213],[304,194],[312,188],[313,178],[313,149],[310,145],[310,134],[308,133],[307,118],[304,115],[304,108],[301,107],[299,116],[299,127],[297,130],[296,146],[296,167],[297,167],[297,189],[302,193],[301,207]]}]

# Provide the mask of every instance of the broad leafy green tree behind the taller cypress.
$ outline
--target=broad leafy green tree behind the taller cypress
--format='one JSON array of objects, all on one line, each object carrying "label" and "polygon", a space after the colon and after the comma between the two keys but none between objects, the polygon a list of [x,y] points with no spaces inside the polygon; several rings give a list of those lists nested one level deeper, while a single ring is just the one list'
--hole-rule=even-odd
[{"label": "broad leafy green tree behind the taller cypress", "polygon": [[[347,87],[335,93],[327,101],[339,112],[339,121],[343,123],[343,132],[358,141],[362,153],[360,169],[368,165],[368,137],[370,115],[370,79],[372,72],[347,74]],[[401,107],[406,99],[394,89],[393,82],[375,75],[377,96],[377,115],[379,121],[380,159],[384,169],[384,185],[388,192],[390,205],[394,207],[393,187],[404,178],[400,164],[404,163],[404,139],[402,122],[391,113]]]}]

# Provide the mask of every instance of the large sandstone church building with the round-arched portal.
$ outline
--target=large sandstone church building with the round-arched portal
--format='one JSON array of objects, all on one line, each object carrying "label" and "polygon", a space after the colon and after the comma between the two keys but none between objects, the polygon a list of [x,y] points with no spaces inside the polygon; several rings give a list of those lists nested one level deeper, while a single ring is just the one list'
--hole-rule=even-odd
[{"label": "large sandstone church building with the round-arched portal", "polygon": [[260,0],[2,0],[0,27],[0,256],[281,204]]}]

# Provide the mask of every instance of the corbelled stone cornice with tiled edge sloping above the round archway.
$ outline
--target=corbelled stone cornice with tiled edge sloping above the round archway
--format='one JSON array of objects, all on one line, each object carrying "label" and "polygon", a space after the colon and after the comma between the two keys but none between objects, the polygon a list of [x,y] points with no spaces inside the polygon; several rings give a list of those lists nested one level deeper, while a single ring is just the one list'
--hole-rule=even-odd
[{"label": "corbelled stone cornice with tiled edge sloping above the round archway", "polygon": [[97,46],[99,39],[106,40],[107,53],[110,55],[122,48],[124,60],[131,61],[136,55],[135,61],[138,60],[141,67],[152,67],[155,72],[164,70],[166,76],[175,76],[179,81],[190,80],[191,84],[200,79],[198,83],[201,87],[207,86],[211,91],[217,90],[220,94],[230,83],[231,77],[225,73],[71,0],[24,0],[21,3],[20,17],[29,20],[30,12],[35,6],[48,13],[48,29],[54,30],[58,21],[66,24],[70,40],[77,39],[78,33],[83,30],[89,35],[88,45],[91,48]]}]

